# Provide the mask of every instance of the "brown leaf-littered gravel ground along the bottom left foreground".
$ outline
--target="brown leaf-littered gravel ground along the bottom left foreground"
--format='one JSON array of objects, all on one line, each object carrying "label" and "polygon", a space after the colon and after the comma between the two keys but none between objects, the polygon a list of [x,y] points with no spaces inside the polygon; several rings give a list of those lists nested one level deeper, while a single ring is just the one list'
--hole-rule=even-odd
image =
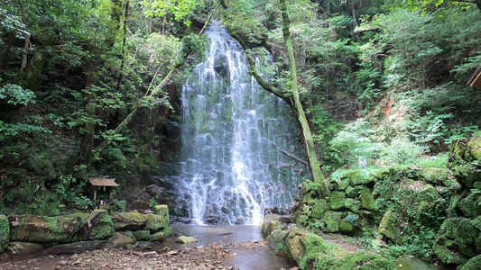
[{"label": "brown leaf-littered gravel ground along the bottom left foreground", "polygon": [[[282,259],[273,261],[273,256],[275,257],[264,241],[233,243],[220,241],[208,246],[167,248],[163,253],[148,250],[99,249],[80,255],[45,256],[9,262],[0,265],[0,268],[4,270],[280,270],[290,268]],[[259,259],[260,257],[268,257],[268,259]]]}]

